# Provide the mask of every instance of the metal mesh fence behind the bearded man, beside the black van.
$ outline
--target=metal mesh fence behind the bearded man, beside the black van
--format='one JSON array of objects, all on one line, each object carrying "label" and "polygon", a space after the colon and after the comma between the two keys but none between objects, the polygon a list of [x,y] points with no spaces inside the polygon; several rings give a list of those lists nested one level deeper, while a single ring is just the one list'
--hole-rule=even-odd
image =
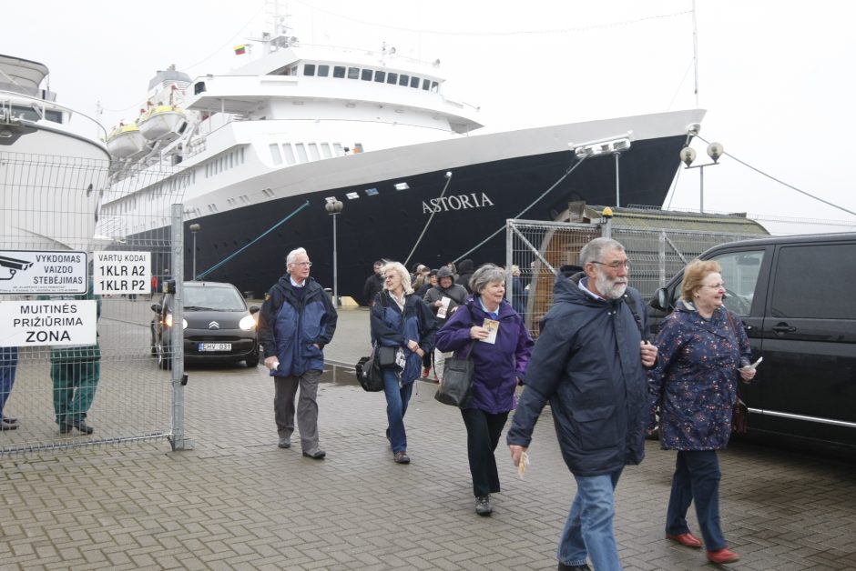
[{"label": "metal mesh fence behind the bearded man, beside the black van", "polygon": [[538,334],[541,318],[553,305],[555,275],[580,271],[580,250],[602,235],[611,236],[625,246],[631,263],[630,285],[645,300],[708,248],[762,237],[666,226],[628,228],[615,226],[606,218],[590,223],[508,220],[505,257],[512,272],[506,279],[506,297],[524,316],[533,337]]}]

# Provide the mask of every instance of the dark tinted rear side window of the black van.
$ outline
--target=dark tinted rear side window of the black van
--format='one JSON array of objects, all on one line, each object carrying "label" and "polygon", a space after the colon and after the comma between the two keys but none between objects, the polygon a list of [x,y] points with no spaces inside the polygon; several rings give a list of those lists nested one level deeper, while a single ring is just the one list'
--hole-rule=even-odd
[{"label": "dark tinted rear side window of the black van", "polygon": [[856,319],[856,245],[796,245],[779,250],[770,315]]}]

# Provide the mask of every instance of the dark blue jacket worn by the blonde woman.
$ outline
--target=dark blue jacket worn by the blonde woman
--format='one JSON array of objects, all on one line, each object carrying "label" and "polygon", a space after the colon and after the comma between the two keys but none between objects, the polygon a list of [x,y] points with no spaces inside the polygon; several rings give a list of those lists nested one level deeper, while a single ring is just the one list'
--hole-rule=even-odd
[{"label": "dark blue jacket worn by the blonde woman", "polygon": [[437,319],[421,297],[404,297],[404,311],[385,289],[374,298],[372,305],[372,346],[403,347],[406,365],[401,380],[409,385],[422,371],[422,357],[407,348],[407,339],[413,339],[425,353],[434,348]]}]

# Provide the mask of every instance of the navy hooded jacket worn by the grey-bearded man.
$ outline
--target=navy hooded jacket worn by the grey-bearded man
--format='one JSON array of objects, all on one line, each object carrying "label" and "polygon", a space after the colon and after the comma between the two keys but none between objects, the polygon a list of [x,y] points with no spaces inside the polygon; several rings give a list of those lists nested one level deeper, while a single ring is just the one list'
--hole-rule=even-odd
[{"label": "navy hooded jacket worn by the grey-bearded man", "polygon": [[[555,303],[542,322],[507,442],[529,446],[549,400],[568,468],[576,476],[603,476],[645,457],[646,371],[639,326],[624,298],[589,296],[578,286],[583,276],[556,279]],[[647,334],[641,296],[629,287],[627,294]]]}]

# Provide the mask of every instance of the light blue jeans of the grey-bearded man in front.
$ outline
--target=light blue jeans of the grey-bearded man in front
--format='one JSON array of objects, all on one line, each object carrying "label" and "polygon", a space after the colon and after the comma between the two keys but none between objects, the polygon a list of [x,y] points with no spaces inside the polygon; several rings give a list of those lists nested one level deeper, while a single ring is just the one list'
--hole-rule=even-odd
[{"label": "light blue jeans of the grey-bearded man in front", "polygon": [[556,553],[566,566],[586,565],[589,556],[596,571],[621,569],[612,518],[616,514],[615,489],[622,470],[604,476],[574,475],[576,497]]}]

